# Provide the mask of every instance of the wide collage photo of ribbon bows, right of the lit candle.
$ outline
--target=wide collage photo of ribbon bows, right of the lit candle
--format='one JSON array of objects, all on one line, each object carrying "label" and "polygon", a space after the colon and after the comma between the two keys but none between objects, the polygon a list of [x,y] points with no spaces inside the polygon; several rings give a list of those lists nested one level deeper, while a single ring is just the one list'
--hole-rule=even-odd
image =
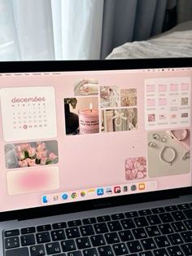
[{"label": "wide collage photo of ribbon bows, right of the lit candle", "polygon": [[137,108],[102,110],[101,120],[103,132],[137,130]]}]

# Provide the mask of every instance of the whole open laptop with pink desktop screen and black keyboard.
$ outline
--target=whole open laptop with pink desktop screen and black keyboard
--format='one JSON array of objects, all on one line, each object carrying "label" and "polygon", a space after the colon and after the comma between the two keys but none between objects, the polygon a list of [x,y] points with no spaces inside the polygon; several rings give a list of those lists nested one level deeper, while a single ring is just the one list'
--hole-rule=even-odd
[{"label": "whole open laptop with pink desktop screen and black keyboard", "polygon": [[0,63],[0,255],[192,255],[192,59]]}]

